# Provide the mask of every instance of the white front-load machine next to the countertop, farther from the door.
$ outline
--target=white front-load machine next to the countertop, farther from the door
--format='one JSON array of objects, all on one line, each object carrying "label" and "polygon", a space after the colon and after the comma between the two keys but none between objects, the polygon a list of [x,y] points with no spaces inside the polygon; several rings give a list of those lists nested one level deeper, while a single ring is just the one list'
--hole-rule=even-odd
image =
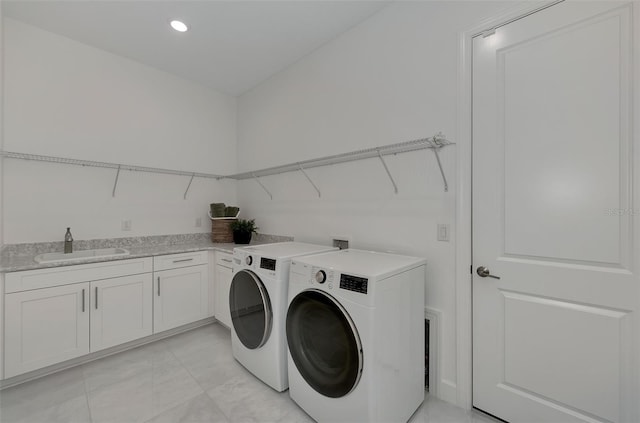
[{"label": "white front-load machine next to the countertop, farther from the door", "polygon": [[233,250],[229,290],[233,356],[273,389],[289,387],[284,319],[292,257],[336,250],[280,242]]}]

